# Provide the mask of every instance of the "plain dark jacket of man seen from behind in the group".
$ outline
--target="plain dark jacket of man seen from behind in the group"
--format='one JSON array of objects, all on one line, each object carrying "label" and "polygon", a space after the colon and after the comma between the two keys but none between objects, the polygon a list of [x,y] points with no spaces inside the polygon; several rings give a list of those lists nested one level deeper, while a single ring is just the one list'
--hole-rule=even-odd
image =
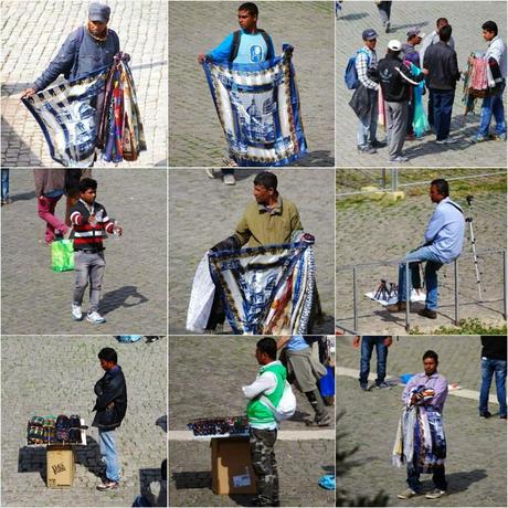
[{"label": "plain dark jacket of man seen from behind in the group", "polygon": [[423,68],[428,70],[426,77],[428,88],[454,91],[457,81],[461,80],[457,53],[443,41],[425,51]]}]

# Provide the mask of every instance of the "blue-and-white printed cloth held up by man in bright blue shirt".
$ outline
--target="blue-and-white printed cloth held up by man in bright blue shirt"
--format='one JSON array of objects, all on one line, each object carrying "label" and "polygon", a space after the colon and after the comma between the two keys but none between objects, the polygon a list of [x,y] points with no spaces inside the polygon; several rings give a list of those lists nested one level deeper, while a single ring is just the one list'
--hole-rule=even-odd
[{"label": "blue-and-white printed cloth held up by man in bright blue shirt", "polygon": [[207,60],[216,113],[239,166],[285,166],[307,152],[290,46],[261,63]]}]

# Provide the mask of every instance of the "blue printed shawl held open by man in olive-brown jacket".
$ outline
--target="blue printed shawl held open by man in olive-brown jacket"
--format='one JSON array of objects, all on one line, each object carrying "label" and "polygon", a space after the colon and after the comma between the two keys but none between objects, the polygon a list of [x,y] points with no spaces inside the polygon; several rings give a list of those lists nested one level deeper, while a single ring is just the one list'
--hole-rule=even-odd
[{"label": "blue printed shawl held open by man in olive-brown jacket", "polygon": [[306,334],[315,289],[310,243],[211,252],[209,264],[235,334]]}]

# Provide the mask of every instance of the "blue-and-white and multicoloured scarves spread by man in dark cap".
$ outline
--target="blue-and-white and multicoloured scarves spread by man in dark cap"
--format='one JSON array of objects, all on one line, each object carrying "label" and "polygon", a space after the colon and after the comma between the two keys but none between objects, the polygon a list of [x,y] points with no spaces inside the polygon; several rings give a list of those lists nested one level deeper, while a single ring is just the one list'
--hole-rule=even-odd
[{"label": "blue-and-white and multicoloured scarves spread by man in dark cap", "polygon": [[146,150],[127,62],[128,56],[118,53],[112,67],[21,99],[39,123],[53,160],[86,168],[93,166],[96,147],[112,162],[136,160]]}]

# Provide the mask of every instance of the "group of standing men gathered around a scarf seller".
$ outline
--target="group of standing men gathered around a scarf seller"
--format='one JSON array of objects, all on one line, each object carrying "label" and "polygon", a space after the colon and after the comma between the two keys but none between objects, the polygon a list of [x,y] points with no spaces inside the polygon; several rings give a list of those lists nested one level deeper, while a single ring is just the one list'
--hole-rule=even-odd
[{"label": "group of standing men gathered around a scarf seller", "polygon": [[[498,67],[497,73],[501,83],[498,83],[483,99],[480,127],[477,134],[468,139],[472,144],[488,139],[506,140],[502,104],[506,45],[494,21],[486,21],[481,30],[488,46],[485,54],[479,57],[488,61],[490,66]],[[458,68],[452,32],[452,25],[445,18],[437,19],[436,30],[430,34],[423,33],[419,27],[411,28],[406,33],[406,42],[391,40],[388,43],[385,57],[379,61],[375,52],[378,33],[373,29],[362,32],[363,46],[357,52],[354,61],[358,86],[350,103],[360,120],[358,151],[372,155],[377,154],[377,148],[385,146],[383,141],[377,139],[381,104],[387,119],[389,161],[408,161],[409,158],[402,150],[406,140],[415,139],[415,110],[419,102],[421,104],[425,87],[428,91],[428,124],[425,125],[423,118],[425,127],[422,128],[420,123],[417,134],[422,136],[425,130],[432,129],[437,145],[451,145],[457,141],[449,134],[455,89],[462,73]],[[417,45],[421,45],[420,51],[416,49]],[[470,62],[473,59],[474,56],[470,57]],[[382,94],[382,100],[379,99],[378,94]],[[361,113],[356,108],[359,96],[363,103]],[[417,115],[422,119],[423,107]],[[496,120],[496,129],[489,134],[493,116]]]}]

